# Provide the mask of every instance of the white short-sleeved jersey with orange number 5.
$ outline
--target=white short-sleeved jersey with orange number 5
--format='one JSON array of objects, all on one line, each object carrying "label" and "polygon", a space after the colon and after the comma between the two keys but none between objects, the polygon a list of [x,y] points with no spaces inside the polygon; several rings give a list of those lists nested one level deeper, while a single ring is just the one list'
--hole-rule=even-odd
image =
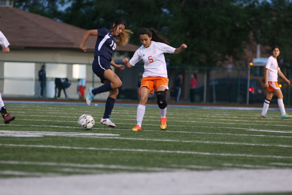
[{"label": "white short-sleeved jersey with orange number 5", "polygon": [[143,45],[135,52],[129,63],[134,66],[141,59],[144,61],[143,77],[166,77],[166,62],[163,53],[173,54],[175,48],[160,42],[151,41],[146,48]]}]

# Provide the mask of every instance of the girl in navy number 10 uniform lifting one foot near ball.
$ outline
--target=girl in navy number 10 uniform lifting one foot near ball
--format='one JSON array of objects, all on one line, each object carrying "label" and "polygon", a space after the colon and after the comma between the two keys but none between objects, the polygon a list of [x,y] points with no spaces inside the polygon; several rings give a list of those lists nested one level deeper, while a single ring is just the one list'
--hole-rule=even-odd
[{"label": "girl in navy number 10 uniform lifting one foot near ball", "polygon": [[82,51],[86,51],[87,48],[84,47],[84,44],[90,35],[97,36],[95,51],[94,51],[94,60],[92,63],[92,70],[97,75],[101,82],[104,84],[98,88],[91,87],[86,96],[86,103],[89,106],[93,97],[96,94],[102,92],[109,92],[105,104],[105,113],[101,118],[101,124],[107,125],[109,127],[115,127],[116,125],[109,119],[114,108],[114,102],[117,99],[119,90],[121,87],[121,80],[119,77],[112,71],[110,65],[120,70],[124,70],[124,65],[117,65],[112,61],[112,53],[117,46],[124,45],[129,40],[129,33],[132,33],[130,30],[126,30],[126,22],[122,19],[117,19],[112,24],[112,28],[108,29],[95,29],[88,30],[84,33],[81,44],[79,48]]}]

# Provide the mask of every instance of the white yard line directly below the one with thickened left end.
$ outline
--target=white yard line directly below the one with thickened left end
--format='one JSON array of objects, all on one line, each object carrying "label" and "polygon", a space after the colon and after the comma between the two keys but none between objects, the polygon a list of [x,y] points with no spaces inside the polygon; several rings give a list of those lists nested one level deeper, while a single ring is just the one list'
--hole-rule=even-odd
[{"label": "white yard line directly below the one with thickened left end", "polygon": [[95,148],[95,147],[73,147],[73,146],[52,146],[52,145],[29,145],[29,144],[0,144],[6,147],[32,147],[32,148],[54,148],[54,149],[75,149],[75,150],[97,150],[97,151],[127,151],[127,152],[150,152],[150,153],[176,153],[176,154],[192,154],[206,156],[239,156],[251,158],[281,158],[292,159],[292,156],[276,156],[276,155],[254,155],[254,154],[232,154],[232,153],[210,153],[198,151],[171,151],[171,150],[149,150],[149,149],[123,149],[123,148]]}]

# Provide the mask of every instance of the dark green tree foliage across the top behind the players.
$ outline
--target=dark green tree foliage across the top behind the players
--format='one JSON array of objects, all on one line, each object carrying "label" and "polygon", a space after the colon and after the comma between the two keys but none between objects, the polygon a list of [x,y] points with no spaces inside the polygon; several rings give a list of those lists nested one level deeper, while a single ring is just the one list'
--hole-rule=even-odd
[{"label": "dark green tree foliage across the top behind the players", "polygon": [[130,42],[137,45],[138,31],[153,27],[171,46],[188,45],[180,55],[166,55],[171,65],[220,66],[229,57],[243,61],[250,41],[279,45],[284,61],[292,62],[291,0],[18,0],[15,6],[84,29],[109,28],[123,18],[134,32]]}]

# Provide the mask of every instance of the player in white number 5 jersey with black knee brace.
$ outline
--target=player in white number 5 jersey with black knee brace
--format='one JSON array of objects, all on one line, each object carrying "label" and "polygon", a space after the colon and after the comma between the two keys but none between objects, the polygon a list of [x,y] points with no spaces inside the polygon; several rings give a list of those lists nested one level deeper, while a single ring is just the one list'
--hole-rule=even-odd
[{"label": "player in white number 5 jersey with black knee brace", "polygon": [[135,52],[131,60],[123,59],[123,63],[127,68],[131,68],[141,59],[144,61],[144,73],[141,80],[141,98],[137,108],[137,125],[132,131],[140,131],[142,120],[145,114],[145,107],[149,94],[156,92],[157,104],[160,110],[160,128],[166,128],[166,96],[168,91],[168,78],[166,70],[166,62],[163,53],[179,54],[183,49],[187,48],[186,44],[182,44],[179,48],[173,48],[169,45],[169,41],[157,34],[157,31],[150,28],[142,28],[139,31],[140,42],[142,46]]}]

